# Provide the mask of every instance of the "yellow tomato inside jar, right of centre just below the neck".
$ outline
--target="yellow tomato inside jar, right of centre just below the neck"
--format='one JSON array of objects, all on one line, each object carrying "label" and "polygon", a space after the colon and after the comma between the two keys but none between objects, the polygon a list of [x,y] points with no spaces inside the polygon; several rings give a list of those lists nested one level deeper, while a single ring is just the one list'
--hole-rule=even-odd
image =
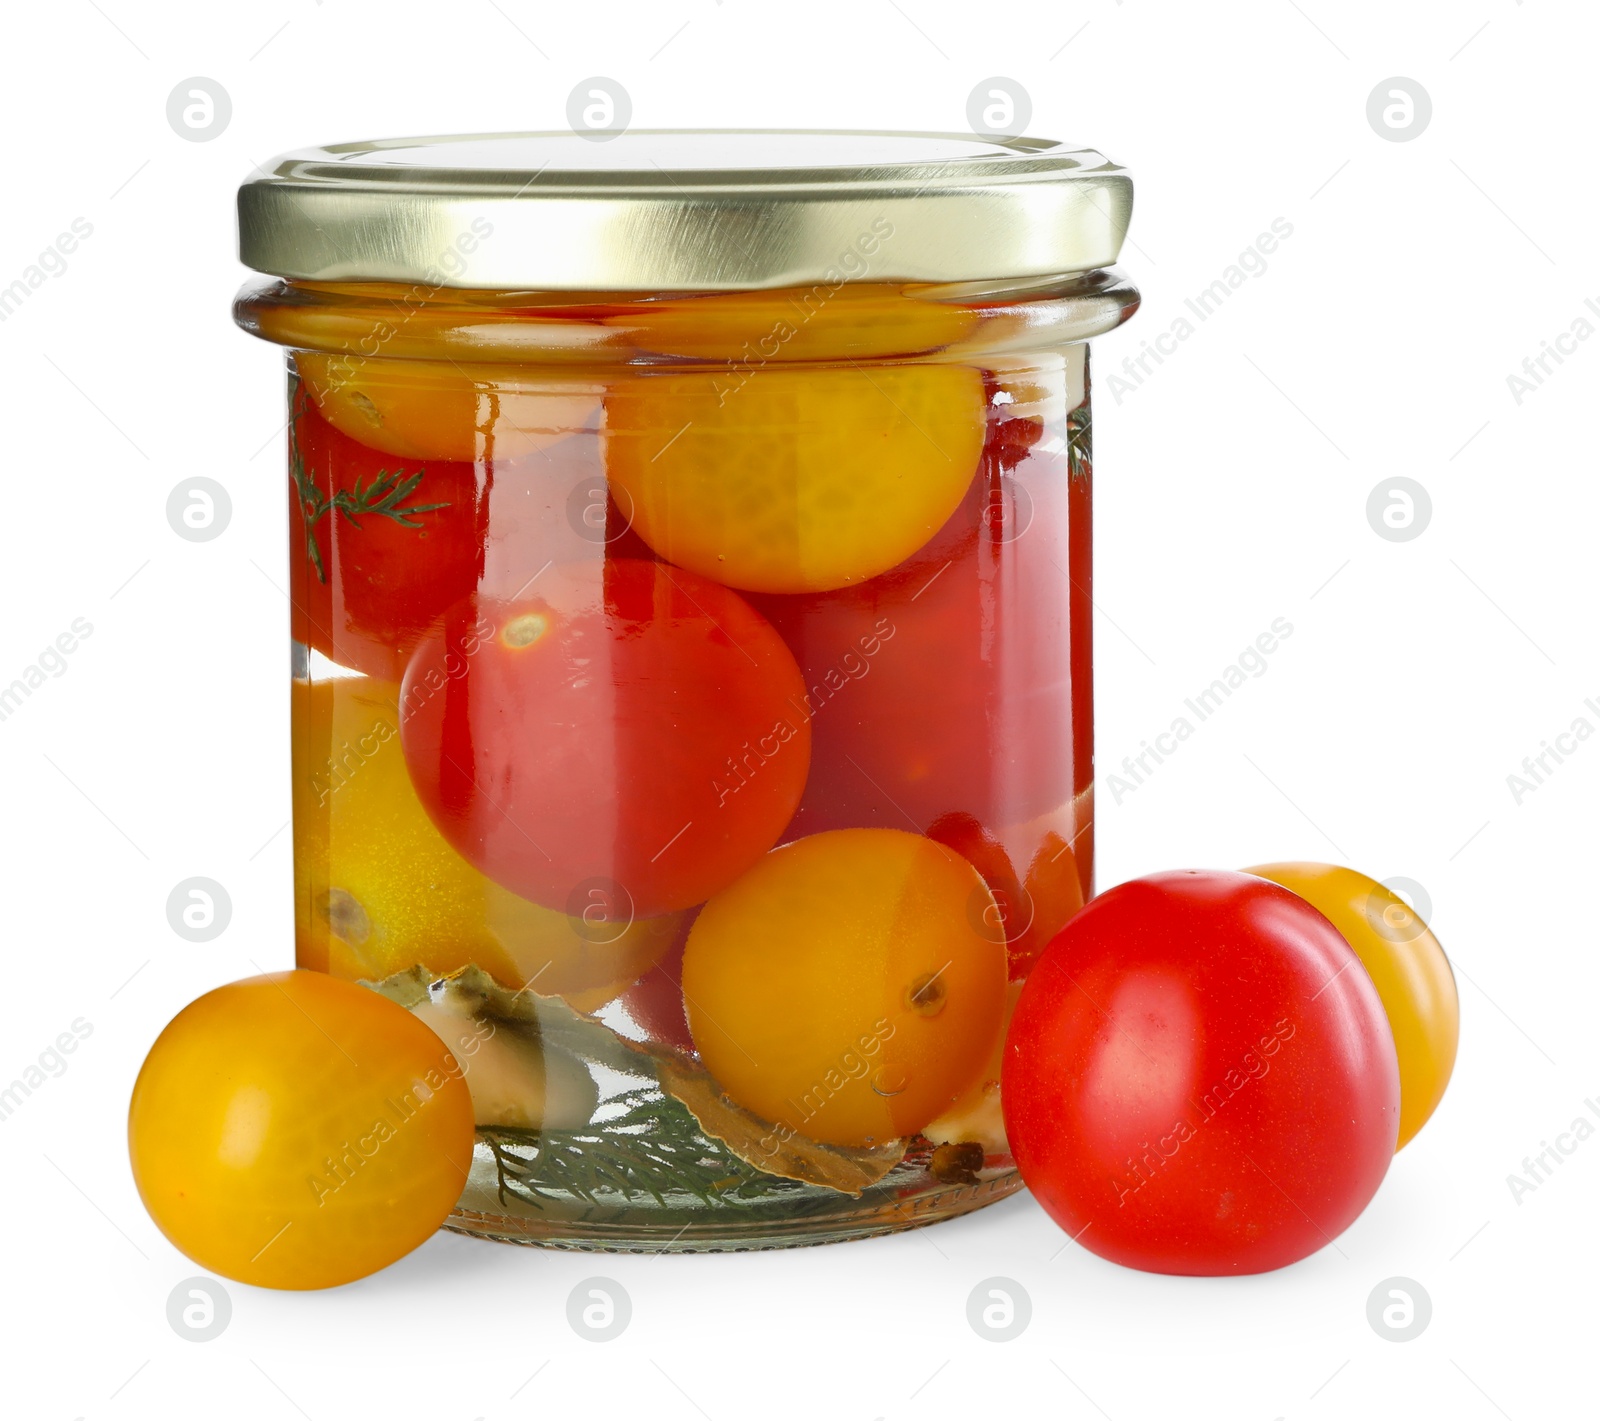
[{"label": "yellow tomato inside jar, right of centre just below the neck", "polygon": [[654,373],[606,394],[611,493],[664,558],[728,587],[888,571],[955,512],[984,442],[960,365]]}]

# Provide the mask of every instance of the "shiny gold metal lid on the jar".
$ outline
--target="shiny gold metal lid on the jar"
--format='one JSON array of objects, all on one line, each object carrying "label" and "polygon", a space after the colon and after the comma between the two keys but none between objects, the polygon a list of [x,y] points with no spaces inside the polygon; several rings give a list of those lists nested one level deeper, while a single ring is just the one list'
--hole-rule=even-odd
[{"label": "shiny gold metal lid on the jar", "polygon": [[285,154],[238,189],[238,254],[307,282],[706,291],[1110,266],[1133,181],[1043,138],[627,130]]}]

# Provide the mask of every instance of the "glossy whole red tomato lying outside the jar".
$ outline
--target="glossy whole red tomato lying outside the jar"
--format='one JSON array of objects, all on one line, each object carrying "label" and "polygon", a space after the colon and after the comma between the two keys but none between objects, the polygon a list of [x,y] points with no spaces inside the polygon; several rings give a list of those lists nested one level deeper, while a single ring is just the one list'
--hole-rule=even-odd
[{"label": "glossy whole red tomato lying outside the jar", "polygon": [[1134,879],[1045,951],[1006,1037],[1018,1168],[1093,1253],[1168,1274],[1283,1267],[1394,1157],[1382,1002],[1334,927],[1232,872]]}]

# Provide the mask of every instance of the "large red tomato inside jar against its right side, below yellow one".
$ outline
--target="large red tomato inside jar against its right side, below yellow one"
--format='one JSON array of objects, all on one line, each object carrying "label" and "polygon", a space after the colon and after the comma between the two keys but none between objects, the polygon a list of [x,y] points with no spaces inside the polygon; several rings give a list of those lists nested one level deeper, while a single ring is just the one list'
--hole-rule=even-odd
[{"label": "large red tomato inside jar against its right side, below yellow one", "polygon": [[1072,799],[1067,477],[1027,456],[1042,429],[1000,421],[962,506],[893,571],[752,598],[810,688],[797,834],[954,813],[1000,827]]}]

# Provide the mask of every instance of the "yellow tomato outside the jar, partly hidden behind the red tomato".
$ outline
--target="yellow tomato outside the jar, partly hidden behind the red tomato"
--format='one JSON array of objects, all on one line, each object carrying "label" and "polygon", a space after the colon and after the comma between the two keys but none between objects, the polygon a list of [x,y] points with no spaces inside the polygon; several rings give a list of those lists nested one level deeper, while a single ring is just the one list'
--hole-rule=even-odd
[{"label": "yellow tomato outside the jar, partly hidden behind the red tomato", "polygon": [[1389,1016],[1400,1058],[1398,1151],[1434,1114],[1450,1085],[1461,1035],[1461,999],[1438,938],[1376,879],[1334,864],[1245,869],[1304,898],[1355,951]]}]

